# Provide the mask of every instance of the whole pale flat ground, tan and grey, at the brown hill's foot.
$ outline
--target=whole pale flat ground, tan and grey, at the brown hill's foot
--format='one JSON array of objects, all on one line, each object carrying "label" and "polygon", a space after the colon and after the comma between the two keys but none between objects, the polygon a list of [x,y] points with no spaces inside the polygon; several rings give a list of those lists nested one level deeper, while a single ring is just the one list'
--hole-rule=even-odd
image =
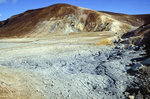
[{"label": "whole pale flat ground, tan and grey, at the brown hill's foot", "polygon": [[[123,99],[142,51],[109,33],[0,40],[0,99]],[[103,39],[102,39],[103,38]]]}]

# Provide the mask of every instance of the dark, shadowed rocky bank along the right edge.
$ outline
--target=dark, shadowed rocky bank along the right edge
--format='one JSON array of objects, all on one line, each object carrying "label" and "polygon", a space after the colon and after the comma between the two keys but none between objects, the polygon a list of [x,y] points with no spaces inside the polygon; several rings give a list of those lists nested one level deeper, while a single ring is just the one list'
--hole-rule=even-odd
[{"label": "dark, shadowed rocky bank along the right edge", "polygon": [[[138,68],[136,72],[133,72],[132,70],[129,70],[132,75],[136,75],[136,77],[139,79],[136,85],[136,89],[134,89],[134,92],[141,96],[141,94],[144,95],[144,97],[140,98],[150,98],[150,22],[145,23],[144,25],[140,26],[138,29],[128,32],[122,36],[122,38],[125,40],[124,43],[128,44],[134,44],[139,47],[143,46],[143,49],[145,50],[144,55],[140,55],[139,58],[133,59],[135,61],[135,66],[142,67]],[[132,86],[133,87],[133,86]],[[133,92],[133,90],[132,90]]]}]

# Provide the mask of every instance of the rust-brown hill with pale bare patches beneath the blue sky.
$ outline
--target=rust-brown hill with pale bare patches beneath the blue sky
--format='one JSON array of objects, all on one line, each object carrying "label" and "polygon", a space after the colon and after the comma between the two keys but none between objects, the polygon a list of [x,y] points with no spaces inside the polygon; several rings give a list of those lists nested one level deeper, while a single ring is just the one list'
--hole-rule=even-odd
[{"label": "rust-brown hill with pale bare patches beneath the blue sky", "polygon": [[[50,33],[114,31],[124,33],[137,27],[116,15],[68,4],[29,10],[0,22],[0,37],[30,37]],[[134,18],[138,22],[138,18]],[[138,25],[139,26],[139,25]]]}]

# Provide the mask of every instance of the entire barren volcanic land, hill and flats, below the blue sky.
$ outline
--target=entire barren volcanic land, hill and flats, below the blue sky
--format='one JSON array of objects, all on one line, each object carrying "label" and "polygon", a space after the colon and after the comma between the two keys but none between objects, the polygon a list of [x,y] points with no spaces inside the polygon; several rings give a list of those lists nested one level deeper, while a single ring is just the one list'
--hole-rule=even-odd
[{"label": "entire barren volcanic land, hill and flats, below the blue sky", "polygon": [[0,99],[149,99],[150,15],[55,4],[0,21]]}]

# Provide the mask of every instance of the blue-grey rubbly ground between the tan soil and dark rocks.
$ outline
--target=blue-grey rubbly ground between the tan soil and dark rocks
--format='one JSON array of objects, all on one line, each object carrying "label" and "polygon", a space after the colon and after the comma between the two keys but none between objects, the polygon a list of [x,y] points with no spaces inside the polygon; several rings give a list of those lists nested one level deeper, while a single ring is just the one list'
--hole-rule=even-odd
[{"label": "blue-grey rubbly ground between the tan soil and dark rocks", "polygon": [[[26,89],[21,89],[22,92],[36,91],[41,94],[37,99],[123,99],[123,92],[136,79],[127,74],[128,65],[132,58],[144,53],[123,44],[109,47],[57,44],[1,52],[0,64],[16,70],[14,75],[18,74],[25,82]],[[35,88],[30,87],[33,85]]]}]

